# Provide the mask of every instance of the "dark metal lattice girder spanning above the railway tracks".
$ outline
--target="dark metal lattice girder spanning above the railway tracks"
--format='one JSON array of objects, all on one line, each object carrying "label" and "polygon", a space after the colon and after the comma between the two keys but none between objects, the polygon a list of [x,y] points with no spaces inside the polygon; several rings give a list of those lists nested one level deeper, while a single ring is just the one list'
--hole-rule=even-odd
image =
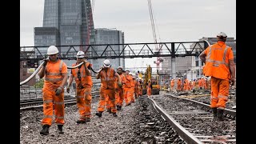
[{"label": "dark metal lattice girder spanning above the railway tracks", "polygon": [[[156,50],[155,46],[160,47]],[[157,43],[125,43],[101,45],[70,45],[57,46],[59,58],[76,59],[78,50],[85,52],[87,59],[98,58],[153,58],[153,57],[186,57],[198,56],[206,47],[207,42],[157,42]],[[47,57],[49,46],[21,46],[20,60]]]}]

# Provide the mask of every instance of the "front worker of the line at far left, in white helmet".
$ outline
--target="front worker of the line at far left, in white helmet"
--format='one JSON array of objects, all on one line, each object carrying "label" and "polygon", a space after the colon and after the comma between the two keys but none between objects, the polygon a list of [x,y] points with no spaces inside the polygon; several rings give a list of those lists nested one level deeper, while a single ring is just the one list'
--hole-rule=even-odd
[{"label": "front worker of the line at far left, in white helmet", "polygon": [[39,78],[44,78],[42,88],[43,118],[40,134],[49,134],[53,112],[55,123],[58,125],[58,133],[63,134],[62,126],[65,123],[64,86],[68,77],[67,66],[65,62],[58,58],[58,48],[56,46],[49,46],[47,55],[49,58],[43,60],[43,66],[38,72]]}]

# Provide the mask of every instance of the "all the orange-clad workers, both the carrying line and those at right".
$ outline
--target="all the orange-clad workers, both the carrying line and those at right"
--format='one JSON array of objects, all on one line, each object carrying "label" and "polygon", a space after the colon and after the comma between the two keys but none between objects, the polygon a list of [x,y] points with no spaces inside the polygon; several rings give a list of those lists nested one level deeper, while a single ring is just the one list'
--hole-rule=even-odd
[{"label": "all the orange-clad workers, both the carrying line and those at right", "polygon": [[[229,96],[230,82],[235,82],[235,65],[232,48],[226,46],[226,34],[221,32],[217,35],[218,42],[208,46],[202,51],[199,58],[206,63],[203,73],[210,77],[210,107],[213,110],[214,119],[224,120],[223,110]],[[55,123],[58,125],[58,133],[63,134],[64,125],[64,86],[68,79],[66,63],[58,58],[58,48],[50,46],[47,50],[49,58],[43,60],[43,66],[38,72],[39,78],[44,78],[42,88],[43,98],[43,118],[42,130],[40,134],[49,134],[49,128],[52,124],[53,110],[55,114]],[[79,63],[81,66],[78,66]],[[91,88],[93,86],[91,78],[91,64],[86,61],[85,54],[78,51],[77,62],[72,66],[78,66],[71,70],[70,78],[66,91],[70,92],[70,85],[73,80],[76,82],[76,98],[80,117],[77,123],[90,122],[91,118]],[[124,71],[121,66],[117,71],[111,67],[110,61],[106,59],[103,62],[101,70],[96,75],[101,79],[100,98],[98,102],[98,112],[96,115],[101,118],[105,110],[117,117],[117,110],[121,110],[122,103],[126,106],[135,102],[135,98],[142,95],[142,79],[135,78],[129,70]],[[183,85],[182,85],[183,83]],[[183,86],[183,87],[182,87]],[[190,82],[186,79],[184,82],[180,78],[177,80],[177,90],[191,90],[194,87],[207,88],[207,82],[204,78]],[[208,85],[209,86],[209,85]],[[170,82],[171,90],[174,90],[174,79]],[[151,95],[152,85],[147,82],[147,95]],[[135,98],[134,98],[135,96]]]}]

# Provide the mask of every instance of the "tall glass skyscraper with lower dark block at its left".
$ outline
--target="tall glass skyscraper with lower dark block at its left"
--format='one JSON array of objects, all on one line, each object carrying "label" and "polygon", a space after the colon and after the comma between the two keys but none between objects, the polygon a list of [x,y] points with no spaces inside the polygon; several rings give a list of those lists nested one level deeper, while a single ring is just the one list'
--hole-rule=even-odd
[{"label": "tall glass skyscraper with lower dark block at its left", "polygon": [[[34,46],[62,46],[60,53],[66,54],[70,45],[86,44],[95,44],[90,0],[45,0],[43,25],[34,28]],[[85,46],[74,48],[86,50]],[[46,54],[46,50],[40,52]]]}]

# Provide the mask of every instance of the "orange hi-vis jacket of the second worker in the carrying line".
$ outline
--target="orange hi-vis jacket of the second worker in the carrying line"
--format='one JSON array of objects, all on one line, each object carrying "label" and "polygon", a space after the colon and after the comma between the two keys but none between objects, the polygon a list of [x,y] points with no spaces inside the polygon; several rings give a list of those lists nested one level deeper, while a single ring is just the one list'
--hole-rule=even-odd
[{"label": "orange hi-vis jacket of the second worker in the carrying line", "polygon": [[[72,64],[72,66],[76,66],[76,65],[78,65],[78,62]],[[90,65],[90,63],[86,62],[86,66],[89,66],[89,65]],[[91,76],[86,74],[85,66],[83,64],[80,67],[80,69],[77,67],[75,69],[72,69],[71,71],[72,71],[72,75],[75,78],[77,87],[78,87],[78,85],[80,85],[80,83],[82,83],[82,86],[85,88],[90,88],[93,86],[93,81],[91,79]],[[80,74],[80,77],[81,77],[80,80],[78,78],[78,74]]]}]

